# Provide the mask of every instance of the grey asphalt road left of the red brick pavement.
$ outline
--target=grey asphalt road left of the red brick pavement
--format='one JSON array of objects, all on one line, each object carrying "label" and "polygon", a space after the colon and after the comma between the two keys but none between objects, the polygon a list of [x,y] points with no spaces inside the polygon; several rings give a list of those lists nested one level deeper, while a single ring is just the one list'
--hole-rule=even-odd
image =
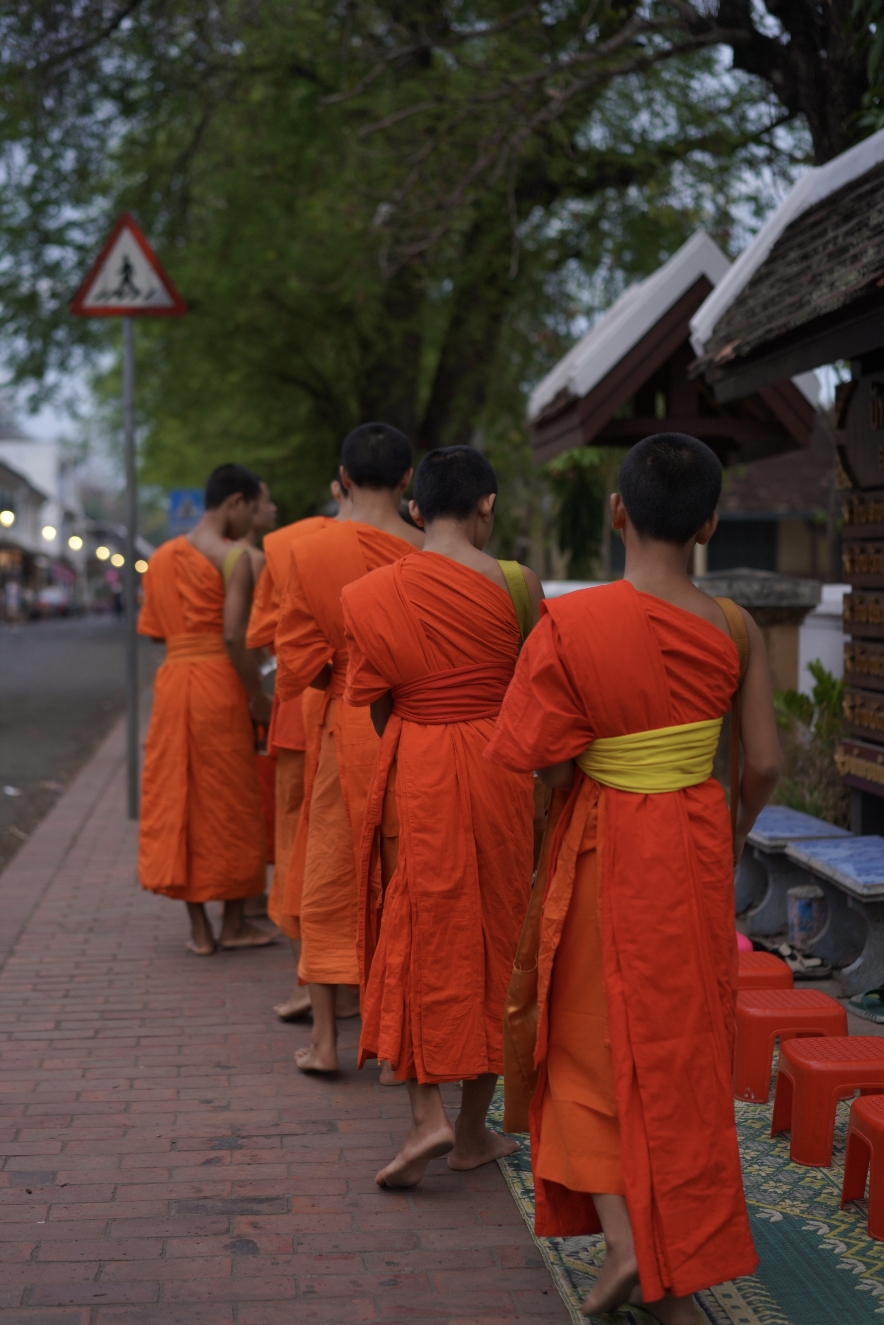
[{"label": "grey asphalt road left of the red brick pavement", "polygon": [[[162,648],[139,644],[147,684]],[[0,624],[0,869],[123,712],[123,652],[110,616]]]}]

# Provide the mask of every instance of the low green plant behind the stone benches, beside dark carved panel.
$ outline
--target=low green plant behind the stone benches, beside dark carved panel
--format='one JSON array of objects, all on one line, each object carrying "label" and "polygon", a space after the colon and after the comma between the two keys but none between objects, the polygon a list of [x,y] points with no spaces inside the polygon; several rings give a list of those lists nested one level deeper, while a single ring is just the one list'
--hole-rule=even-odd
[{"label": "low green plant behind the stone benches, beside dark carved panel", "polygon": [[807,666],[814,677],[811,694],[798,690],[774,693],[786,774],[773,799],[777,804],[803,810],[847,828],[850,796],[835,767],[844,682],[827,672],[819,660]]}]

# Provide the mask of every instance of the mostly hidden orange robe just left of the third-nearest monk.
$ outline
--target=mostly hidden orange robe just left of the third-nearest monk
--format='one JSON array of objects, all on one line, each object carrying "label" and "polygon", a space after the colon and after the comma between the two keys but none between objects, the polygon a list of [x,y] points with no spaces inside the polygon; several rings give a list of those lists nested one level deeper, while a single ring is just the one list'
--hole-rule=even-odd
[{"label": "mostly hidden orange robe just left of the third-nearest monk", "polygon": [[[252,615],[245,636],[245,643],[250,649],[269,648],[276,652],[276,629],[289,576],[292,545],[297,538],[315,534],[317,530],[325,529],[330,523],[333,521],[327,515],[313,515],[265,535],[264,555],[266,563],[254,590]],[[289,938],[301,938],[298,917],[285,914],[282,897],[289,857],[304,803],[304,751],[306,745],[307,734],[301,712],[301,696],[297,694],[281,704],[278,693],[274,693],[268,751],[276,755],[276,841],[268,916]]]}]

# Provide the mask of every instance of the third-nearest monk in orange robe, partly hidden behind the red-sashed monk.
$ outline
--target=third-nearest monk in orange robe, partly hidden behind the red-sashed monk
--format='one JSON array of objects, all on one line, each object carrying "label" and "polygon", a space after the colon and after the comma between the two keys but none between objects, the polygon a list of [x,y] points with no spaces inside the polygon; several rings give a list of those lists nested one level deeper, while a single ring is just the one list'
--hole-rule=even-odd
[{"label": "third-nearest monk in orange robe, partly hidden behind the red-sashed monk", "polygon": [[411,443],[398,429],[363,424],[345,439],[350,515],[292,545],[280,610],[277,693],[286,701],[310,686],[313,697],[305,697],[305,796],[284,902],[286,914],[300,916],[298,975],[313,1004],[311,1044],[296,1055],[305,1072],[337,1071],[335,991],[359,984],[357,845],[379,749],[367,710],[343,698],[341,591],[423,543],[399,515],[411,476]]}]

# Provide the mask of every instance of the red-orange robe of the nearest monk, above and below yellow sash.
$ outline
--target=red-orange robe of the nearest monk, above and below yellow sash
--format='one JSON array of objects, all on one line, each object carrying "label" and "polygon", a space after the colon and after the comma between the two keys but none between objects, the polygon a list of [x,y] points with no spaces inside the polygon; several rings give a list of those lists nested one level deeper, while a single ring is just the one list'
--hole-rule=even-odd
[{"label": "red-orange robe of the nearest monk, above and below yellow sash", "polygon": [[[596,737],[721,717],[738,677],[730,637],[691,612],[626,580],[569,594],[543,604],[486,757],[545,767]],[[535,1227],[598,1231],[588,1191],[623,1191],[645,1301],[757,1264],[730,1083],[733,906],[714,779],[637,795],[577,771],[541,926]]]}]

